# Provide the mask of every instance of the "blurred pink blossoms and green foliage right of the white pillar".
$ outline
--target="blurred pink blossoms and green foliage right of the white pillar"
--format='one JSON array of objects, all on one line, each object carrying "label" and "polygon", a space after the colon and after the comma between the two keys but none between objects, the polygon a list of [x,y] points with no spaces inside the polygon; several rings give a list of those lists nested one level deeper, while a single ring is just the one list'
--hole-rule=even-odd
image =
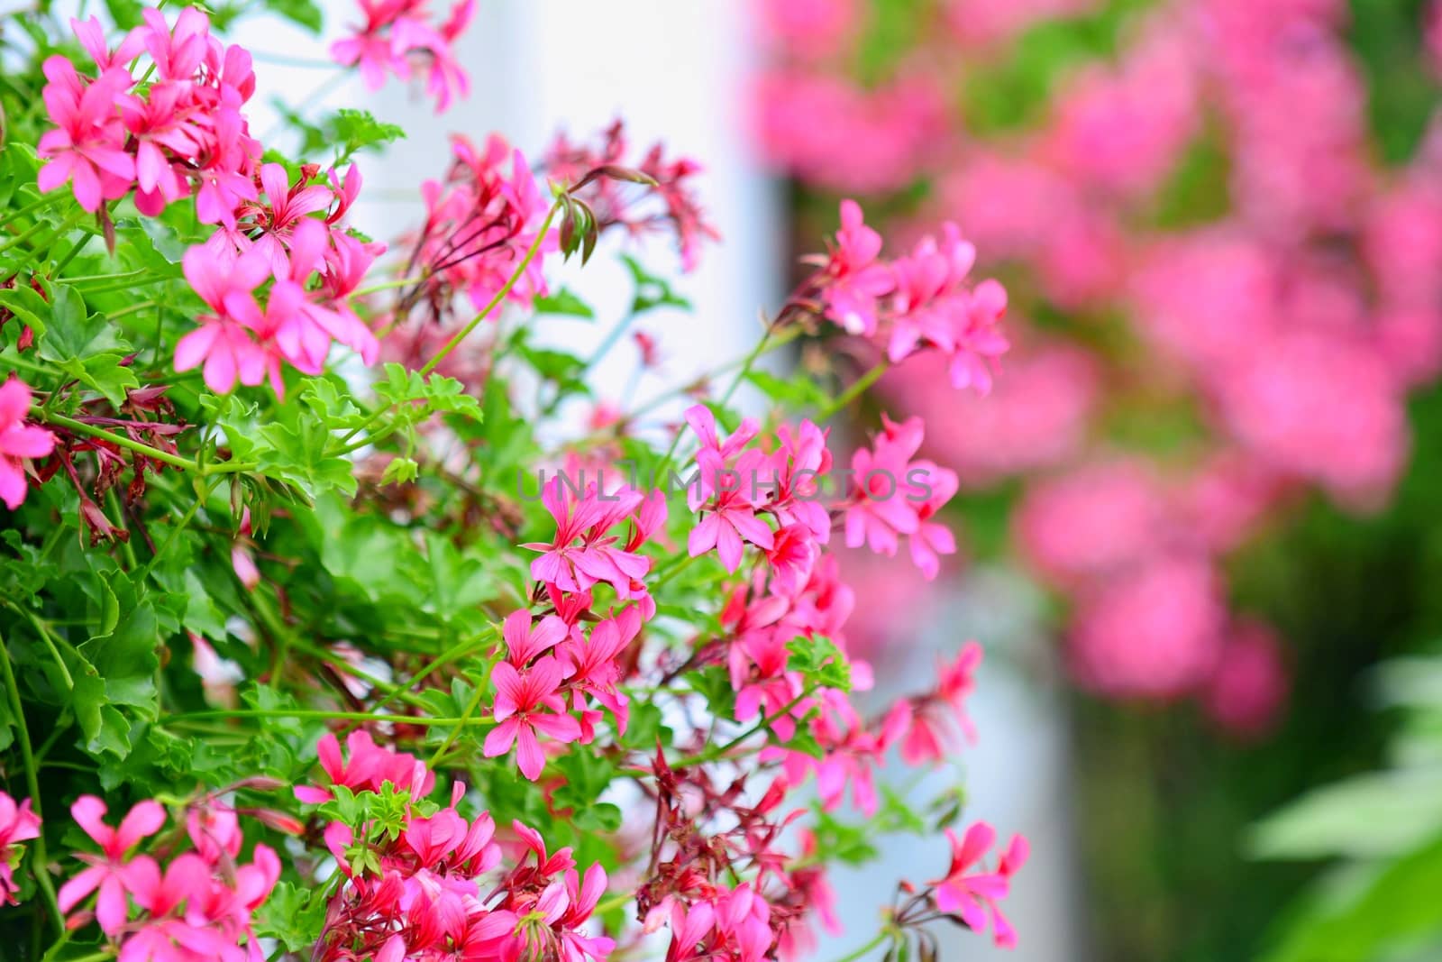
[{"label": "blurred pink blossoms and green foliage right of the white pillar", "polygon": [[953,577],[872,594],[1045,642],[983,639],[1061,692],[1070,927],[1035,958],[1442,958],[1438,691],[1392,661],[1442,633],[1442,12],[758,7],[797,237],[838,196],[891,238],[955,221],[1012,297],[992,397],[908,363],[872,398],[970,489]]}]

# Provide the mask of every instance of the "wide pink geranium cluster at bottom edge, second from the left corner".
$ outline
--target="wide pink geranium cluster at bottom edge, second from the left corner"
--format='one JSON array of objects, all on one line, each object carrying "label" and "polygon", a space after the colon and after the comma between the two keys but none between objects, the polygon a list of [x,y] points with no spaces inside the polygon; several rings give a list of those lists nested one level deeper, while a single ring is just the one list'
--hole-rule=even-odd
[{"label": "wide pink geranium cluster at bottom edge, second from the left corner", "polygon": [[[358,824],[326,826],[326,847],[345,881],[329,900],[316,959],[600,962],[609,955],[613,942],[584,930],[606,890],[600,865],[581,880],[570,848],[548,854],[535,829],[515,822],[508,848],[522,854],[502,874],[495,821],[487,812],[466,819],[457,811],[464,785],[454,783],[450,803],[437,808],[425,802],[435,776],[412,756],[376,746],[365,733],[352,734],[348,749],[345,759],[333,736],[320,743],[332,783],[349,789],[352,802],[391,798],[399,809],[394,822],[359,815]],[[296,795],[323,803],[333,790],[300,786]]]}]

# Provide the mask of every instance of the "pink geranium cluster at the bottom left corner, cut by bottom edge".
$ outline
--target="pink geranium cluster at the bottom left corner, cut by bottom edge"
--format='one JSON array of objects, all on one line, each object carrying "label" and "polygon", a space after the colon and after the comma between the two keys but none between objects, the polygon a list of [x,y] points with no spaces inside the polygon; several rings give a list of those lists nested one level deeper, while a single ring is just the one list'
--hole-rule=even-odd
[{"label": "pink geranium cluster at the bottom left corner, cut by bottom edge", "polygon": [[238,861],[244,838],[232,809],[218,802],[192,806],[185,821],[192,848],[176,854],[177,845],[167,842],[164,864],[136,851],[164,826],[164,808],[140,802],[117,828],[104,822],[105,812],[92,795],[71,806],[71,818],[101,851],[76,852],[87,867],[59,891],[69,927],[94,920],[125,962],[262,958],[252,916],[275,887],[280,858],[257,844],[252,861]]}]

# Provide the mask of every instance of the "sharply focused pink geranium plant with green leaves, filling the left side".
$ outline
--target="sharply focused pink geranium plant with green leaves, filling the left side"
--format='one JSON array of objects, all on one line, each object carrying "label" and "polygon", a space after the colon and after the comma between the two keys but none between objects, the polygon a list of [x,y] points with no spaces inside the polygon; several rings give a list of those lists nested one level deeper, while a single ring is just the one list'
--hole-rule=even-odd
[{"label": "sharply focused pink geranium plant with green leaves, filling the left side", "polygon": [[[841,462],[825,423],[870,381],[832,398],[756,365],[833,323],[842,352],[937,358],[986,391],[1005,294],[970,286],[970,247],[947,228],[884,260],[848,205],[727,394],[705,375],[633,405],[594,392],[594,363],[630,335],[658,371],[662,335],[632,323],[685,304],[634,252],[606,348],[581,359],[536,329],[596,314],[548,284],[604,231],[671,234],[696,265],[717,232],[694,160],[627,159],[620,124],[535,166],[499,136],[456,138],[424,222],[373,270],[385,248],[346,226],[346,162],[388,125],[281,110],[303,150],[335,133],[343,160],[262,154],[249,58],[212,36],[241,10],[110,14],[134,27],[114,49],[99,20],[75,25],[89,75],[55,56],[43,79],[63,45],[43,12],[16,14],[48,42],[29,68],[7,52],[20,76],[0,85],[20,143],[45,120],[12,91],[46,85],[56,127],[43,167],[0,163],[0,323],[22,325],[0,352],[0,498],[71,486],[0,538],[0,770],[43,767],[56,802],[0,793],[0,899],[37,893],[0,937],[23,922],[56,933],[50,956],[115,962],[604,962],[659,936],[671,962],[761,962],[839,930],[828,864],[867,831],[848,799],[888,832],[955,821],[900,796],[883,811],[877,770],[940,766],[973,737],[981,648],[862,714],[871,668],[848,653],[857,600],[832,550],[906,550],[910,577],[934,578],[959,477],[923,454],[919,418],[883,417]],[[440,25],[417,0],[360,14],[342,65],[371,85],[424,71],[440,107],[464,92],[450,45],[469,0]],[[487,317],[505,323],[467,342]],[[366,389],[332,368],[337,345],[394,363]],[[743,382],[805,401],[738,420]],[[584,427],[557,415],[572,398]],[[535,464],[565,470],[534,498],[503,483]],[[694,467],[685,508],[627,464]],[[138,802],[112,825],[101,792]],[[58,893],[48,844],[82,850]],[[1024,845],[991,873],[978,854],[881,939],[930,950],[926,923],[947,917],[1009,940],[996,906]]]}]

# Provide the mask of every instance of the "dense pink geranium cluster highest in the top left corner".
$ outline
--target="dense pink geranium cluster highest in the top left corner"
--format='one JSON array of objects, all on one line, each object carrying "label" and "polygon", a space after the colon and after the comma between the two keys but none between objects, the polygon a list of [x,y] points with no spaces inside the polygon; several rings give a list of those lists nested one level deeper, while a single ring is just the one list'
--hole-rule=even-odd
[{"label": "dense pink geranium cluster highest in the top left corner", "polygon": [[[255,92],[251,55],[211,36],[209,19],[186,7],[174,26],[154,9],[110,49],[98,19],[72,20],[95,63],[84,76],[63,56],[45,62],[45,107],[55,130],[40,138],[42,190],[69,182],[87,211],[134,190],[141,213],[195,193],[203,224],[234,224],[255,199],[261,146],[241,108]],[[149,55],[143,76],[133,69]]]}]

